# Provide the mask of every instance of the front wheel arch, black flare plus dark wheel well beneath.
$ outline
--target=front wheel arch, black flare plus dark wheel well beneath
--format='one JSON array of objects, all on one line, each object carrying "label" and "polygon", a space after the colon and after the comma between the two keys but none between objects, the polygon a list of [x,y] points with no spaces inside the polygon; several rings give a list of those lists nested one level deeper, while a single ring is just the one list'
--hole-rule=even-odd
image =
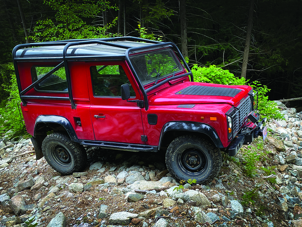
[{"label": "front wheel arch, black flare plus dark wheel well beneath", "polygon": [[[173,132],[174,136],[170,136],[171,132]],[[212,126],[200,122],[171,121],[165,123],[165,125],[162,127],[158,149],[161,148],[161,146],[164,144],[164,141],[166,145],[169,145],[169,143],[172,142],[172,140],[176,137],[188,134],[202,137],[212,141],[217,148],[223,148],[223,144],[216,133],[216,130]]]}]

